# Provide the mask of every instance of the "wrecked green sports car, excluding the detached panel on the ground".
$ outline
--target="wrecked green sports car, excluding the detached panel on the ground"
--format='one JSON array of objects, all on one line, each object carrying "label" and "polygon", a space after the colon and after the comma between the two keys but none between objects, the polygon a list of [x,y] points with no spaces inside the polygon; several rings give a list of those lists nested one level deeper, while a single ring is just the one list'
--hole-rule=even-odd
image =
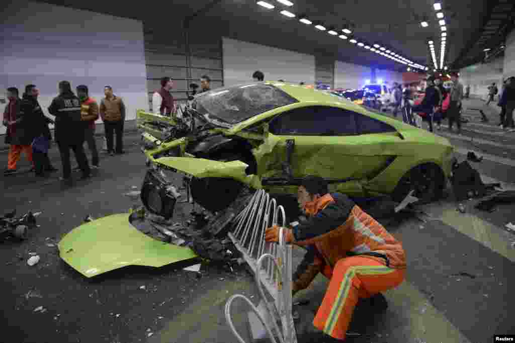
[{"label": "wrecked green sports car, excluding the detached panel on the ground", "polygon": [[429,202],[453,163],[445,138],[281,82],[205,92],[177,117],[139,111],[138,121],[147,162],[183,174],[193,200],[213,212],[234,201],[242,185],[295,194],[307,175],[350,196],[391,194],[400,201],[415,190]]}]

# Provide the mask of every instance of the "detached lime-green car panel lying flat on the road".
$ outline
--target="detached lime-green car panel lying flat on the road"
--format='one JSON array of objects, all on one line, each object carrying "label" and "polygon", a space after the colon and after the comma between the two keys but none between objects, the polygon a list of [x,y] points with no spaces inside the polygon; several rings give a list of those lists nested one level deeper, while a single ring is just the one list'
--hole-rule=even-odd
[{"label": "detached lime-green car panel lying flat on the road", "polygon": [[60,257],[87,278],[129,265],[162,267],[195,258],[190,249],[158,241],[134,228],[129,214],[85,223],[59,242]]}]

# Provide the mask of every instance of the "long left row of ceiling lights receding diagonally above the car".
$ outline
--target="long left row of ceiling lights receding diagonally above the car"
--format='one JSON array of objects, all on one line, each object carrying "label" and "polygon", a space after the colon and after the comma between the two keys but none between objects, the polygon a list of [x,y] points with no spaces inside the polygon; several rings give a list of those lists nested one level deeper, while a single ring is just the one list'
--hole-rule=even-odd
[{"label": "long left row of ceiling lights receding diagonally above the car", "polygon": [[[277,0],[278,3],[281,3],[285,6],[293,6],[293,3],[288,1],[288,0]],[[256,4],[266,8],[266,9],[273,9],[275,8],[274,5],[266,2],[266,1],[257,1]],[[282,15],[284,16],[287,16],[288,18],[295,18],[296,15],[294,13],[291,13],[290,11],[286,11],[286,10],[283,10],[280,12]],[[313,23],[311,20],[307,19],[305,16],[300,16],[299,18],[299,21],[303,24],[306,24],[306,25],[311,25],[311,24],[315,24],[315,28],[317,28],[318,30],[320,31],[326,31],[327,28],[325,26],[323,26],[322,23]],[[352,33],[352,31],[349,29],[349,28],[344,28],[341,30],[342,32],[344,32],[346,35],[350,35]],[[327,31],[329,33],[329,35],[332,35],[332,36],[338,36],[340,39],[343,39],[343,40],[348,40],[349,37],[346,36],[346,35],[339,35],[338,34],[338,31],[335,29],[335,28],[329,28],[329,30]],[[427,70],[427,67],[424,67],[423,65],[420,65],[418,63],[415,63],[411,60],[408,60],[407,58],[399,55],[399,54],[396,54],[394,52],[392,52],[391,50],[388,50],[386,47],[384,46],[381,46],[379,44],[366,44],[366,43],[363,43],[363,42],[359,42],[357,41],[356,39],[354,38],[351,38],[349,40],[350,43],[352,44],[356,44],[357,46],[359,47],[362,47],[362,48],[365,48],[367,50],[370,50],[371,52],[373,53],[376,53],[378,55],[381,55],[381,56],[384,56],[386,58],[389,58],[393,61],[396,61],[396,62],[399,62],[399,63],[402,63],[404,65],[409,65],[410,67],[413,67],[413,68],[417,68],[417,69],[420,69],[420,70]]]}]

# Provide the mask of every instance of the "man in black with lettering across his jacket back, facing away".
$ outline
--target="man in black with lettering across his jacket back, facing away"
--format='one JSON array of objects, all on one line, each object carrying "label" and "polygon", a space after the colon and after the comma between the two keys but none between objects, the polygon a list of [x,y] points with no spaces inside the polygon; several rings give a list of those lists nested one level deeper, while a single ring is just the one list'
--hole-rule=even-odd
[{"label": "man in black with lettering across his jacket back, facing away", "polygon": [[52,104],[48,107],[48,113],[56,117],[55,135],[63,165],[61,180],[71,180],[72,178],[70,149],[73,150],[82,171],[81,179],[89,178],[91,169],[83,147],[84,123],[80,120],[80,100],[72,92],[70,82],[59,82],[59,96],[52,100]]}]

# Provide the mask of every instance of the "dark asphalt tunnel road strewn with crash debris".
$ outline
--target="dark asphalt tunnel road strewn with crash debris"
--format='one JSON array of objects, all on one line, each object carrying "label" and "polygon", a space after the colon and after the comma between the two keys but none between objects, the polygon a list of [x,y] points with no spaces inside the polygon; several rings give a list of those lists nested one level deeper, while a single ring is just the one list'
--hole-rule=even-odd
[{"label": "dark asphalt tunnel road strewn with crash debris", "polygon": [[[203,264],[203,275],[197,278],[196,273],[182,270],[188,263],[131,266],[87,279],[58,256],[60,237],[86,216],[98,218],[130,208],[132,201],[123,194],[139,189],[146,171],[138,141],[138,135],[127,135],[125,155],[102,155],[95,177],[71,187],[61,185],[59,172],[49,179],[35,179],[29,173],[0,177],[2,209],[42,212],[39,227],[27,241],[1,243],[3,341],[236,342],[225,322],[225,302],[235,293],[257,299],[253,279],[243,267],[231,272]],[[60,168],[55,148],[50,157]],[[6,154],[0,155],[1,163],[6,160]],[[27,170],[28,164],[22,161],[20,168]],[[503,181],[513,175],[512,166],[502,163],[487,161],[478,168],[482,175]],[[356,312],[351,329],[372,336],[348,341],[483,343],[494,333],[515,332],[511,324],[515,313],[506,306],[514,303],[510,270],[515,249],[510,244],[515,235],[502,229],[507,221],[515,222],[510,205],[485,214],[468,203],[467,215],[459,214],[455,205],[451,196],[425,209],[433,216],[425,224],[407,218],[387,226],[408,251],[409,276],[399,289],[385,294],[390,303],[387,313]],[[32,267],[27,265],[30,252],[41,257]],[[301,258],[302,251],[296,249],[296,263]],[[478,278],[461,282],[449,277],[461,271]],[[327,280],[318,277],[300,294],[312,300],[307,313],[316,311],[326,285]],[[39,306],[46,311],[35,312]],[[247,311],[244,305],[235,305],[236,326],[244,336],[248,336]]]}]

